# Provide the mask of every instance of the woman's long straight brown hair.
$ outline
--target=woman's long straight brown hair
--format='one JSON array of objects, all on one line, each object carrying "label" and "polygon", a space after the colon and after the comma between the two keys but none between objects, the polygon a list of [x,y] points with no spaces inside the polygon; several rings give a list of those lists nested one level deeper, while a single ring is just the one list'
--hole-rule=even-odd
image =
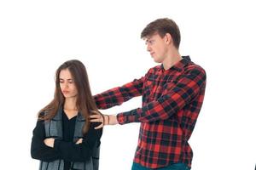
[{"label": "woman's long straight brown hair", "polygon": [[[98,111],[98,109],[96,107],[95,100],[93,99],[90,92],[90,83],[88,80],[85,66],[81,61],[77,59],[66,61],[55,72],[54,99],[43,109],[41,109],[41,111],[39,111],[38,118],[40,120],[49,121],[57,114],[60,106],[64,105],[65,97],[61,93],[60,72],[65,69],[68,69],[68,71],[70,71],[75,86],[78,90],[76,107],[78,108],[79,113],[84,116],[84,119],[86,120],[86,123],[84,123],[83,127],[83,133],[87,133],[90,127],[91,111]],[[41,114],[42,112],[44,112],[44,114]]]}]

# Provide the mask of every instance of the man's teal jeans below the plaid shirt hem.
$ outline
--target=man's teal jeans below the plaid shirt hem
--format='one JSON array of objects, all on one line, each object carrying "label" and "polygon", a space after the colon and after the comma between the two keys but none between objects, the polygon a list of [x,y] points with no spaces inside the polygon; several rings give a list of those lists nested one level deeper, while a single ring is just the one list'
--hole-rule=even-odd
[{"label": "man's teal jeans below the plaid shirt hem", "polygon": [[185,164],[183,163],[175,163],[172,165],[169,165],[168,167],[160,167],[160,168],[156,168],[156,169],[151,169],[148,167],[143,167],[138,163],[133,162],[131,170],[189,170],[190,168],[187,167]]}]

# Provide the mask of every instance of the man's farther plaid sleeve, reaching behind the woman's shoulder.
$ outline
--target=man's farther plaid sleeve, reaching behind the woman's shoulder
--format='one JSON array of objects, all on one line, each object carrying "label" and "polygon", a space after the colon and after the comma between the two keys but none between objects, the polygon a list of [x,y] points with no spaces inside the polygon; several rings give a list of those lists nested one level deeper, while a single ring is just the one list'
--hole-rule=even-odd
[{"label": "man's farther plaid sleeve, reaching behind the woman's shoulder", "polygon": [[121,105],[125,101],[142,95],[143,93],[144,77],[135,79],[133,82],[126,83],[125,85],[112,88],[102,94],[96,94],[94,99],[99,109],[108,109],[115,105]]}]

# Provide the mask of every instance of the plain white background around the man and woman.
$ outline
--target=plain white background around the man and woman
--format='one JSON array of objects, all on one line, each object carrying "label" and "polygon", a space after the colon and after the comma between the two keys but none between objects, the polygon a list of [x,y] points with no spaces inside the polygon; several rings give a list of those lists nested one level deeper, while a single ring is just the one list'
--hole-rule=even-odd
[{"label": "plain white background around the man and woman", "polygon": [[[189,140],[194,170],[254,169],[255,5],[253,1],[0,2],[1,169],[38,169],[30,156],[37,112],[53,98],[55,69],[87,67],[93,94],[140,78],[156,65],[140,33],[162,17],[177,22],[180,53],[207,71],[207,91]],[[116,114],[141,98],[103,111]],[[105,127],[101,170],[129,170],[139,123]]]}]

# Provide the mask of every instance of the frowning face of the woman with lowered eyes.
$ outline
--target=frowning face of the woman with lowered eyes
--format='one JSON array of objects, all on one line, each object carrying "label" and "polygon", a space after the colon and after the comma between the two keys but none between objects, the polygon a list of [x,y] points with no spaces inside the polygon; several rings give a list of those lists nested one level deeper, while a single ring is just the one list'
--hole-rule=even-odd
[{"label": "frowning face of the woman with lowered eyes", "polygon": [[75,86],[73,77],[68,69],[60,72],[60,87],[61,93],[65,98],[75,98],[78,95],[78,90]]}]

